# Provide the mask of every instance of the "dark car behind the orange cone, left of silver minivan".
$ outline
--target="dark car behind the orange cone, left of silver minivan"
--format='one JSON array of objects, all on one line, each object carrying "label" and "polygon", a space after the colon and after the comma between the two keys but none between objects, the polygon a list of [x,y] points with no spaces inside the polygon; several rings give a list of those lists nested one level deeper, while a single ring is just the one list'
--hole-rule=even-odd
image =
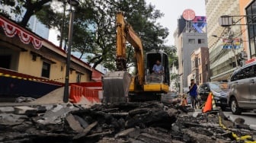
[{"label": "dark car behind the orange cone, left of silver minivan", "polygon": [[212,92],[216,106],[220,106],[225,110],[228,105],[227,96],[229,92],[228,84],[226,82],[206,82],[200,85],[198,94],[200,95],[200,104],[206,102],[209,93]]}]

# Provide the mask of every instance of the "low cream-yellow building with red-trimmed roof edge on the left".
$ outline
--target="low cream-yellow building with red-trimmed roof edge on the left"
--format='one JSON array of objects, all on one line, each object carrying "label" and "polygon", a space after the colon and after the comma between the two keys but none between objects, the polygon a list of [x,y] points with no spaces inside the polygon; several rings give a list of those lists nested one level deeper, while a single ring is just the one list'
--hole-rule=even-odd
[{"label": "low cream-yellow building with red-trimmed roof edge on the left", "polygon": [[[46,94],[65,83],[66,51],[0,16],[0,94]],[[91,81],[91,66],[71,57],[69,83]]]}]

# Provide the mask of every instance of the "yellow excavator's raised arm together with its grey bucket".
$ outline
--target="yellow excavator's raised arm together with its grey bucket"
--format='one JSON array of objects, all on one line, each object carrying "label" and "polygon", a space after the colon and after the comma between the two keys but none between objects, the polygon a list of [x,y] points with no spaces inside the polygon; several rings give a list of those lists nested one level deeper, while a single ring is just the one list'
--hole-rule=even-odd
[{"label": "yellow excavator's raised arm together with its grey bucket", "polygon": [[137,68],[136,82],[142,86],[145,77],[142,41],[134,32],[133,27],[125,21],[123,12],[117,12],[117,71],[104,75],[105,103],[124,102],[128,97],[131,77],[126,67],[126,41],[134,47]]}]

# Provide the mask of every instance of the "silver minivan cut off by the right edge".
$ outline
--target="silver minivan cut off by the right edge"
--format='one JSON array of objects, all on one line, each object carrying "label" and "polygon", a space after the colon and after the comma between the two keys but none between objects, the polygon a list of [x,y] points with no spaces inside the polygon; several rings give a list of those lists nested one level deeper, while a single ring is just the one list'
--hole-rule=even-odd
[{"label": "silver minivan cut off by the right edge", "polygon": [[234,71],[229,81],[228,103],[233,114],[256,110],[256,62]]}]

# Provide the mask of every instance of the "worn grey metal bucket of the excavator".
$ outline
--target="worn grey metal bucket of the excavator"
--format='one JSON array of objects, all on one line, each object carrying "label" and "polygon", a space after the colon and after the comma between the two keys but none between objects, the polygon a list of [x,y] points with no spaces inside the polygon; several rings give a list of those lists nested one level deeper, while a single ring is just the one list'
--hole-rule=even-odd
[{"label": "worn grey metal bucket of the excavator", "polygon": [[104,103],[126,102],[131,75],[127,71],[108,72],[103,78]]}]

